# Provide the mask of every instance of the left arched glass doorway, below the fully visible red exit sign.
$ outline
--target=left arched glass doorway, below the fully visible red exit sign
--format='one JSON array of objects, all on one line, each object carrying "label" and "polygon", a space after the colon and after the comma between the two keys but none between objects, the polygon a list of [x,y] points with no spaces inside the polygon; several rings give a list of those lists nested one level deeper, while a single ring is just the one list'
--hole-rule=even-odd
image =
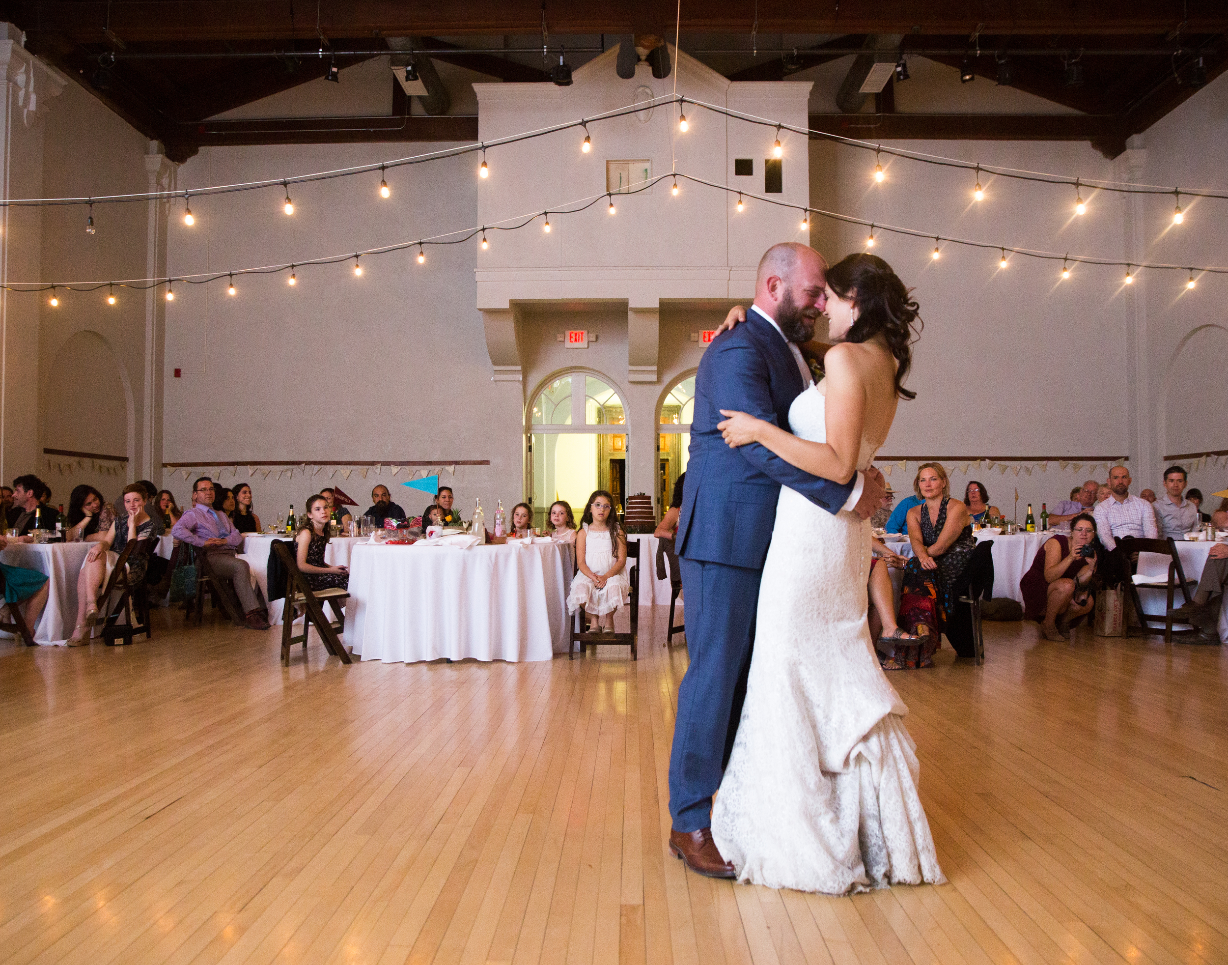
[{"label": "left arched glass doorway, below the fully visible red exit sign", "polygon": [[587,372],[554,376],[533,399],[528,422],[534,525],[549,524],[555,500],[571,503],[578,523],[597,489],[626,507],[626,409],[609,383]]}]

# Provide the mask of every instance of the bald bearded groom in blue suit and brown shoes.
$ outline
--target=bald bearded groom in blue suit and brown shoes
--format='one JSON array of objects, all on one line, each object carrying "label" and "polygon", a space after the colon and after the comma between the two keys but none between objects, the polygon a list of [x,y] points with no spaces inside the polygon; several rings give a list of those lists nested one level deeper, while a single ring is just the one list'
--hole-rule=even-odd
[{"label": "bald bearded groom in blue suit and brown shoes", "polygon": [[731,449],[716,424],[721,409],[785,428],[788,406],[812,384],[797,347],[826,307],[826,263],[804,244],[768,249],[745,324],[720,335],[695,377],[690,460],[675,543],[686,594],[690,665],[678,689],[669,759],[669,850],[691,870],[733,878],[712,841],[712,796],[733,748],[754,638],[759,579],[782,485],[831,513],[863,519],[884,492],[878,470],[831,481],[797,469],[763,446]]}]

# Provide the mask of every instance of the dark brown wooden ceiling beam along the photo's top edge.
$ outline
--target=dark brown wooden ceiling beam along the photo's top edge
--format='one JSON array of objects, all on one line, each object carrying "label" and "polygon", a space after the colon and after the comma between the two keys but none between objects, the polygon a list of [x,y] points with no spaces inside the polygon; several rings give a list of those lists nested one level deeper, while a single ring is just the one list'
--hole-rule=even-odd
[{"label": "dark brown wooden ceiling beam along the photo's top edge", "polygon": [[[10,0],[9,16],[23,29],[63,32],[77,43],[98,42],[108,25],[125,43],[204,39],[317,39],[307,9],[292,17],[285,0]],[[683,9],[685,33],[750,33],[755,9],[744,0],[709,0]],[[662,0],[571,4],[546,11],[554,36],[631,33],[645,25],[673,26],[675,6]],[[321,0],[328,37],[422,34],[540,34],[539,0],[469,0],[464,4],[403,0]],[[798,4],[761,0],[760,33],[971,34],[1167,34],[1228,29],[1222,0],[842,0]]]}]

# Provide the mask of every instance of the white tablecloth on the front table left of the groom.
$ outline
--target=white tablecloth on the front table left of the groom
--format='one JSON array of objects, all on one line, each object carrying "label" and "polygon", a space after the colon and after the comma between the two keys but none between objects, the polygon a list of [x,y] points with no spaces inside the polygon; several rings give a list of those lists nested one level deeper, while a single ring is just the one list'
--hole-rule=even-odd
[{"label": "white tablecloth on the front table left of the groom", "polygon": [[573,548],[387,546],[350,556],[345,641],[363,661],[548,661],[567,651]]}]

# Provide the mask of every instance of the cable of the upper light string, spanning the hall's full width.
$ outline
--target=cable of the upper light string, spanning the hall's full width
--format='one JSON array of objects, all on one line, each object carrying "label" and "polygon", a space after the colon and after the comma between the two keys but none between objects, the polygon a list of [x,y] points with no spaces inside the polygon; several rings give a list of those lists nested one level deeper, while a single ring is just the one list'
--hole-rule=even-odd
[{"label": "cable of the upper light string, spanning the hall's full width", "polygon": [[[675,45],[677,50],[677,45]],[[677,74],[675,74],[677,81]],[[440,161],[447,157],[457,157],[467,153],[476,153],[492,147],[499,147],[508,144],[517,144],[519,141],[533,140],[535,138],[544,138],[550,134],[556,134],[559,131],[570,130],[571,128],[583,128],[586,134],[589,123],[597,123],[600,120],[613,120],[620,117],[626,117],[628,114],[639,113],[642,110],[652,109],[653,107],[664,106],[669,103],[677,103],[679,106],[685,106],[686,103],[693,103],[699,108],[705,110],[722,114],[727,118],[743,120],[748,124],[755,124],[765,128],[776,128],[780,130],[790,130],[795,134],[804,134],[808,138],[815,140],[825,140],[833,144],[842,145],[846,147],[852,147],[856,150],[873,151],[876,155],[888,155],[890,157],[898,157],[905,161],[915,161],[923,165],[931,165],[936,167],[950,167],[959,168],[963,171],[985,171],[996,177],[1011,178],[1014,180],[1035,182],[1040,184],[1052,184],[1066,188],[1074,188],[1078,190],[1079,187],[1093,188],[1095,190],[1113,192],[1116,194],[1142,194],[1142,195],[1173,195],[1176,199],[1176,206],[1180,209],[1181,196],[1186,198],[1208,198],[1217,200],[1228,200],[1228,192],[1212,190],[1205,188],[1179,188],[1176,185],[1168,187],[1162,184],[1132,184],[1129,182],[1116,182],[1116,180],[1104,180],[1097,178],[1083,178],[1083,177],[1071,177],[1068,174],[1056,174],[1052,172],[1044,171],[1028,171],[1024,168],[1012,168],[1001,165],[987,165],[981,161],[965,161],[957,157],[946,157],[943,155],[926,153],[923,151],[909,151],[900,147],[885,147],[882,142],[858,140],[855,138],[846,138],[840,134],[831,134],[830,131],[817,130],[808,126],[801,126],[797,124],[787,124],[781,120],[775,120],[772,118],[760,117],[758,114],[749,114],[742,110],[733,110],[720,104],[707,103],[705,101],[696,101],[683,95],[670,93],[655,97],[651,101],[645,101],[637,104],[628,104],[626,107],[614,108],[593,117],[583,117],[576,120],[560,122],[559,124],[551,124],[545,128],[538,128],[534,130],[522,131],[519,134],[512,134],[506,138],[497,138],[488,141],[474,141],[472,144],[458,145],[456,147],[448,147],[440,151],[431,151],[421,155],[410,155],[406,157],[391,158],[384,161],[375,161],[367,165],[355,165],[352,167],[345,168],[333,168],[329,171],[317,171],[307,174],[296,174],[293,177],[279,177],[279,178],[265,178],[262,180],[252,182],[239,182],[235,184],[215,184],[206,185],[201,188],[176,188],[160,192],[141,192],[133,194],[106,194],[106,195],[91,195],[91,196],[61,196],[61,198],[9,198],[0,199],[0,207],[22,207],[22,206],[53,206],[53,205],[95,205],[95,204],[122,204],[130,201],[151,201],[151,200],[167,200],[167,199],[179,199],[185,194],[192,194],[194,196],[208,196],[216,194],[233,194],[238,192],[259,190],[263,188],[275,188],[290,184],[306,184],[317,180],[332,180],[335,178],[348,178],[357,177],[361,174],[368,174],[371,172],[382,171],[386,168],[405,167],[411,165],[422,165],[431,161]],[[1180,220],[1178,220],[1180,223]]]}]

